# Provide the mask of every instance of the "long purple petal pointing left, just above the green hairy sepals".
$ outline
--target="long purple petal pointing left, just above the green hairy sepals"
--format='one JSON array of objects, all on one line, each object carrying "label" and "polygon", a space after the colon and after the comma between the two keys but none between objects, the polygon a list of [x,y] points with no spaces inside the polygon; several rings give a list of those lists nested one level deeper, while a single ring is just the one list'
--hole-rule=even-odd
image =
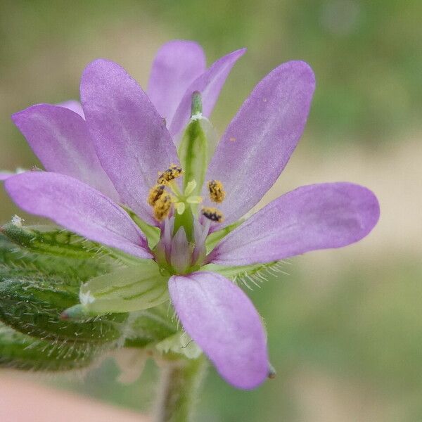
[{"label": "long purple petal pointing left, just above the green hairy sepals", "polygon": [[19,207],[70,231],[131,255],[150,258],[146,239],[122,208],[77,179],[50,172],[9,177],[6,191]]}]

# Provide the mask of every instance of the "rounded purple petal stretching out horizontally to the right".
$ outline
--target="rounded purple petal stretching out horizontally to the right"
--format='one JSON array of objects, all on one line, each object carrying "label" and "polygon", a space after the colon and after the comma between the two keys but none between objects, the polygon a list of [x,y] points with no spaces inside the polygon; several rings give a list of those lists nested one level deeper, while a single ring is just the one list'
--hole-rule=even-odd
[{"label": "rounded purple petal stretching out horizontally to the right", "polygon": [[211,252],[221,265],[248,265],[340,248],[364,238],[379,218],[376,196],[351,183],[302,186],[269,203]]}]

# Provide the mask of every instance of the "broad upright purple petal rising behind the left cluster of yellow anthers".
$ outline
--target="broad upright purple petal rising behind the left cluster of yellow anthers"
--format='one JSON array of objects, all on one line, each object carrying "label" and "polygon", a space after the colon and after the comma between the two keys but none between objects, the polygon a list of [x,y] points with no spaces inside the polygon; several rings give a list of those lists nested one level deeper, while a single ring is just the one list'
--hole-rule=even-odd
[{"label": "broad upright purple petal rising behind the left cluster of yellow anthers", "polygon": [[81,98],[101,165],[125,205],[156,224],[146,203],[158,172],[177,163],[177,152],[148,96],[127,72],[109,60],[85,68]]}]

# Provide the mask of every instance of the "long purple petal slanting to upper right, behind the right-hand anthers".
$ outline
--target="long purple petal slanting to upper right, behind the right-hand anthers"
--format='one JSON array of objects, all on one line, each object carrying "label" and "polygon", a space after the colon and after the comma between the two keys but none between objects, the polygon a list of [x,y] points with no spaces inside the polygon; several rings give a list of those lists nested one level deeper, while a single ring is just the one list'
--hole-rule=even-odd
[{"label": "long purple petal slanting to upper right, behind the right-hand anthers", "polygon": [[257,84],[226,129],[207,180],[221,180],[224,225],[258,203],[286,166],[302,135],[314,92],[306,63],[280,65]]}]

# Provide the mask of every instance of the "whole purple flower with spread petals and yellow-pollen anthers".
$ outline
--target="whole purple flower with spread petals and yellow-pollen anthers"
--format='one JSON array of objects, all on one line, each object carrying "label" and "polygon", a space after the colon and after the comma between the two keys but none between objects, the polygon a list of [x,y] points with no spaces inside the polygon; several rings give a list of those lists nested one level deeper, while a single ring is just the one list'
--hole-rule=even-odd
[{"label": "whole purple flower with spread petals and yellow-pollen anthers", "polygon": [[[155,58],[148,95],[116,63],[95,60],[82,75],[82,109],[75,110],[75,103],[68,109],[39,105],[13,117],[47,172],[9,177],[6,189],[23,210],[139,258],[139,283],[126,282],[133,269],[113,280],[101,276],[88,282],[92,290],[83,291],[84,306],[101,302],[101,289],[103,312],[156,305],[167,300],[164,279],[181,324],[222,377],[238,388],[255,388],[269,373],[266,335],[252,302],[222,275],[224,269],[358,241],[375,226],[379,206],[362,186],[314,184],[232,224],[281,174],[305,127],[315,83],[300,61],[270,72],[243,103],[212,158],[204,155],[205,174],[203,138],[196,134],[190,146],[198,150],[186,155],[182,129],[188,124],[184,136],[192,137],[193,122],[206,122],[203,115],[210,115],[243,52],[205,70],[197,44],[165,44]],[[191,117],[195,91],[202,94],[203,110]],[[188,179],[191,174],[197,176]],[[153,243],[149,229],[159,233]]]}]

